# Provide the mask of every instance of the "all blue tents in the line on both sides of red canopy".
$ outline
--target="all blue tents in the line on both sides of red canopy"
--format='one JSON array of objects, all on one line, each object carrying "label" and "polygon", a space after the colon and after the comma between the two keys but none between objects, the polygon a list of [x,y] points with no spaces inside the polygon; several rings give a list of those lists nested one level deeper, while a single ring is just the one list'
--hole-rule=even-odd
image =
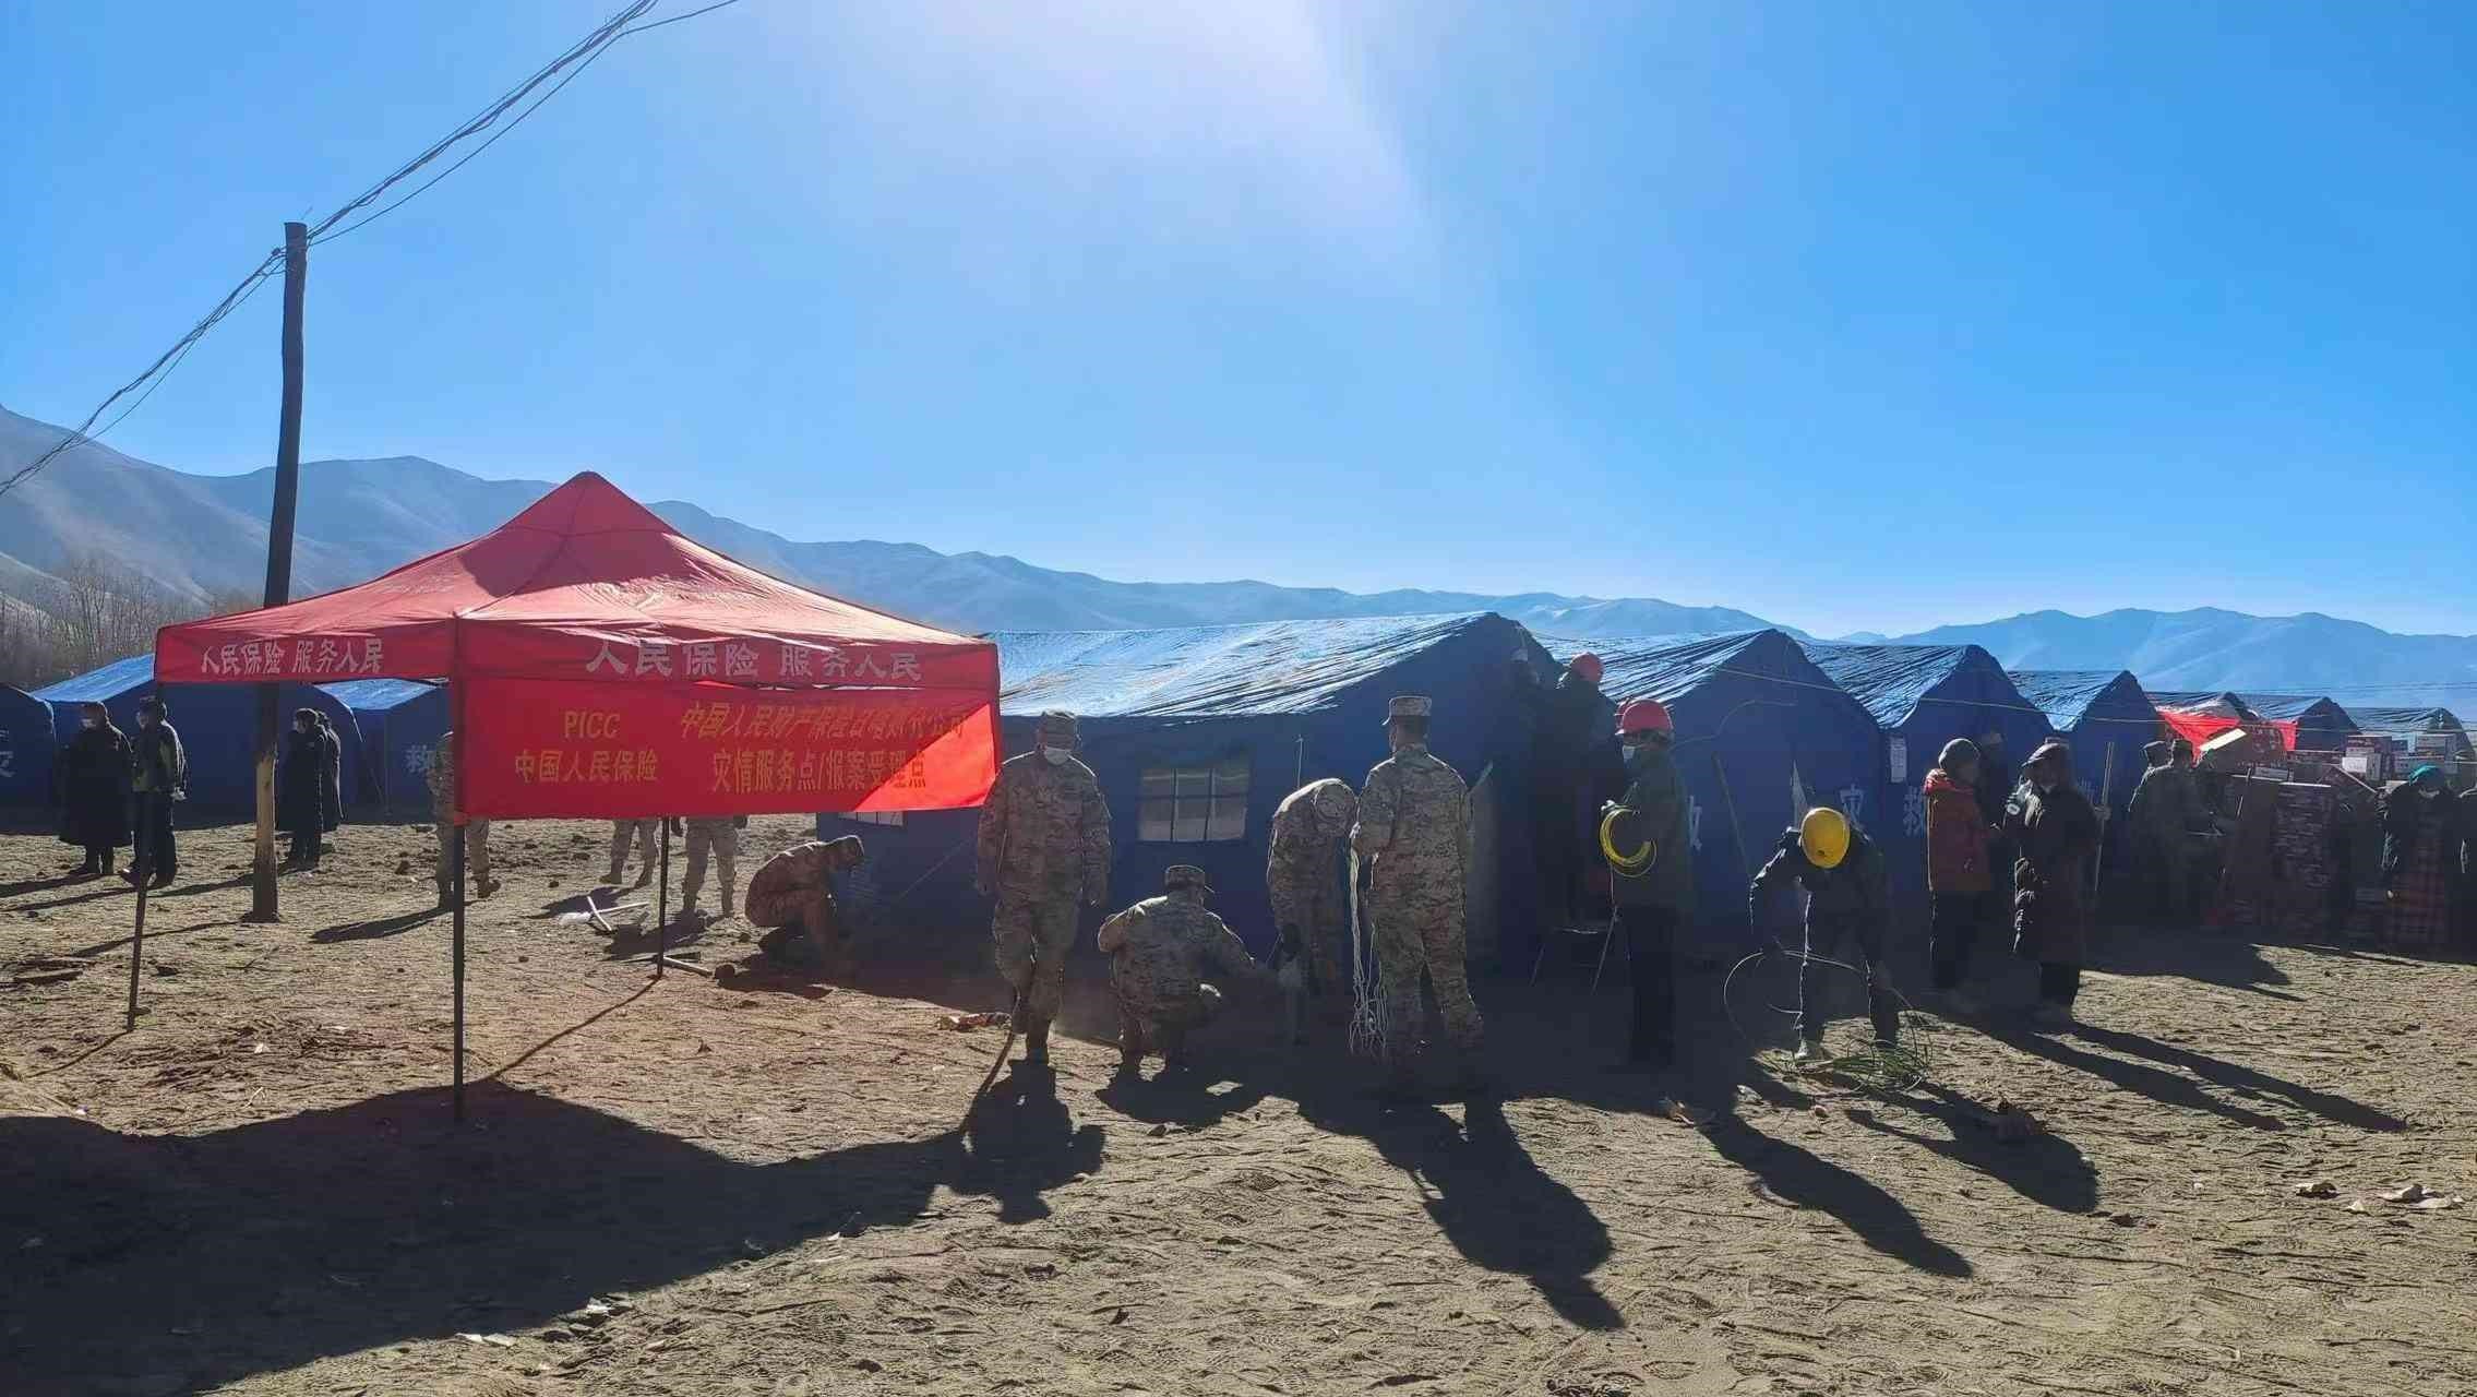
[{"label": "all blue tents in the line on both sides of red canopy", "polygon": [[[2048,736],[2076,753],[2093,800],[2123,812],[2162,711],[2291,723],[2301,748],[2390,733],[2418,753],[2465,755],[2442,708],[2346,708],[2281,694],[2153,694],[2125,671],[2006,671],[1979,646],[1845,646],[1764,629],[1724,637],[1533,637],[1496,614],[1377,617],[1149,632],[1001,632],[1006,751],[1030,746],[1040,711],[1082,718],[1085,760],[1115,812],[1112,897],[1159,887],[1167,864],[1201,864],[1219,904],[1258,951],[1271,939],[1263,860],[1273,807],[1298,785],[1362,780],[1385,758],[1385,701],[1437,698],[1432,743],[1474,785],[1479,867],[1474,949],[1528,956],[1536,882],[1526,817],[1533,703],[1593,651],[1610,703],[1662,698],[1692,793],[1697,921],[1744,931],[1736,889],[1791,817],[1831,803],[1885,845],[1895,897],[1925,899],[1920,780],[1952,738],[2001,733],[2006,763]],[[42,805],[52,746],[77,731],[77,703],[102,701],[121,726],[154,691],[146,656],[35,694],[0,689],[0,805]],[[193,820],[250,810],[255,701],[240,686],[168,686],[191,748]],[[287,686],[285,708],[317,706],[347,733],[354,805],[426,807],[421,773],[446,728],[431,684],[372,679]],[[862,914],[941,924],[976,919],[971,810],[822,815],[862,832],[872,860],[847,889]]]}]

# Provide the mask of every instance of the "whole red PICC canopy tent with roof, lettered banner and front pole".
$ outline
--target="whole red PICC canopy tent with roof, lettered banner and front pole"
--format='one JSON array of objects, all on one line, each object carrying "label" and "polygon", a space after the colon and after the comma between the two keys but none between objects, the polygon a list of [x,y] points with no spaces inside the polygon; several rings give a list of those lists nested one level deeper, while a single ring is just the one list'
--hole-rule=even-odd
[{"label": "whole red PICC canopy tent with roof, lettered banner and front pole", "polygon": [[590,471],[359,587],[156,634],[159,684],[285,679],[446,679],[458,825],[951,810],[996,780],[991,642],[768,577]]}]

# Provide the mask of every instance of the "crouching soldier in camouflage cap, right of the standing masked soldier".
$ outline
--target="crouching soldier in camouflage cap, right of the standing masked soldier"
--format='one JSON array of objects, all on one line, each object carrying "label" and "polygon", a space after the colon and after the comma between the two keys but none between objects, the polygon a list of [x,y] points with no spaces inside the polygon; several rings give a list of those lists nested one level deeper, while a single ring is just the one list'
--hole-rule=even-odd
[{"label": "crouching soldier in camouflage cap, right of the standing masked soldier", "polygon": [[1172,864],[1162,897],[1137,902],[1100,924],[1117,993],[1117,1070],[1134,1075],[1149,1045],[1169,1070],[1186,1068],[1186,1030],[1221,1013],[1221,988],[1204,981],[1268,983],[1246,944],[1204,907],[1204,869]]}]

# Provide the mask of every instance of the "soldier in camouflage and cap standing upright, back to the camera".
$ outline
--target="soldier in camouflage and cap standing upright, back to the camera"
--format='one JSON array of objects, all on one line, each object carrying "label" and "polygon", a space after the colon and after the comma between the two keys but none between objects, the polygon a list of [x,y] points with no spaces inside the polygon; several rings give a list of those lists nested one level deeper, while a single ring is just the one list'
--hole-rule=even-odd
[{"label": "soldier in camouflage and cap standing upright, back to the camera", "polygon": [[1479,1085],[1479,1006],[1464,968],[1461,902],[1471,867],[1471,800],[1454,768],[1427,751],[1429,698],[1404,696],[1385,708],[1390,758],[1367,773],[1360,822],[1350,847],[1370,860],[1367,936],[1382,976],[1387,1087],[1409,1087],[1419,1053],[1419,976],[1437,991],[1444,1033],[1464,1058],[1464,1085]]}]

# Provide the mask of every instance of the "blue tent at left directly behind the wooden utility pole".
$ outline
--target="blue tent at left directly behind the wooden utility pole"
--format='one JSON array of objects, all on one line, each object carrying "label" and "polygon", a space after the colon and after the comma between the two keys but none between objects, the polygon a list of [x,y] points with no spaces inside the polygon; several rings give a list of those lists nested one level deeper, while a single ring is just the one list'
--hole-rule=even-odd
[{"label": "blue tent at left directly behind the wooden utility pole", "polygon": [[[139,728],[139,698],[156,694],[154,656],[129,659],[89,669],[74,679],[62,679],[35,691],[52,706],[52,733],[67,743],[77,733],[77,706],[102,703],[111,721],[126,733]],[[181,825],[211,825],[240,820],[258,810],[258,691],[248,684],[166,684],[163,703],[171,726],[181,731],[188,751],[188,800],[181,803]],[[277,694],[285,721],[292,708],[317,708],[344,736],[344,790],[362,780],[359,753],[349,741],[352,713],[342,703],[320,694],[310,684],[285,684]]]}]

